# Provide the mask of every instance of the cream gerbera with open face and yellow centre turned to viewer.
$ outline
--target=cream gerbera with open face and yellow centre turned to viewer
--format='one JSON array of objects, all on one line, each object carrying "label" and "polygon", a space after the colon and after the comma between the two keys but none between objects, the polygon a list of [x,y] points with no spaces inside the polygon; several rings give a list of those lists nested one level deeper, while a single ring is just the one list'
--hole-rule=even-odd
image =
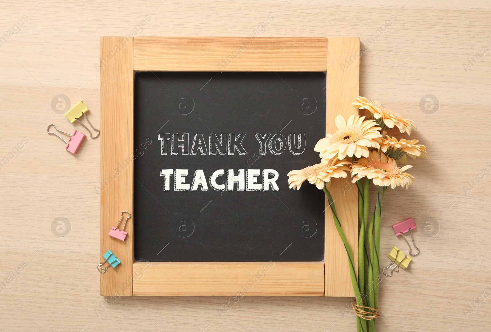
[{"label": "cream gerbera with open face and yellow centre turned to viewer", "polygon": [[339,160],[347,155],[357,158],[368,156],[368,148],[380,148],[379,142],[382,135],[380,127],[374,120],[366,120],[364,116],[352,115],[348,121],[343,116],[338,115],[335,124],[338,130],[333,134],[327,134],[317,142],[314,151],[319,152],[323,159],[330,159],[337,155]]}]

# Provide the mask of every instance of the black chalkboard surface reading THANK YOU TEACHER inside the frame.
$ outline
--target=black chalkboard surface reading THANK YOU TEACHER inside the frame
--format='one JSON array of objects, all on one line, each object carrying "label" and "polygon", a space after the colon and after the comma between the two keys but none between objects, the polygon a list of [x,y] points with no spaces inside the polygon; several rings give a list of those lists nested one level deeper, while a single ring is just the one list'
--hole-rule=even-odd
[{"label": "black chalkboard surface reading THANK YOU TEACHER inside the frame", "polygon": [[323,260],[324,193],[289,189],[287,173],[320,162],[325,86],[325,73],[136,73],[135,259]]}]

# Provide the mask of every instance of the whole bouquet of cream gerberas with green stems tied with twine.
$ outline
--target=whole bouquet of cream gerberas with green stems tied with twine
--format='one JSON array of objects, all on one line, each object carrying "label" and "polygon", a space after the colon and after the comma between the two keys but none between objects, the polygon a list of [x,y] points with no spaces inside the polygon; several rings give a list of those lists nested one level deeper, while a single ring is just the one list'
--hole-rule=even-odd
[{"label": "whole bouquet of cream gerberas with green stems tied with twine", "polygon": [[[426,147],[417,140],[397,139],[386,135],[389,128],[410,135],[416,128],[412,120],[390,111],[380,102],[358,97],[353,105],[365,110],[365,116],[352,115],[348,120],[338,115],[335,124],[338,130],[319,140],[314,151],[319,152],[321,161],[313,166],[288,173],[290,188],[300,189],[307,180],[324,190],[332,211],[336,230],[343,241],[350,263],[350,275],[355,291],[353,308],[356,313],[358,332],[374,332],[379,317],[379,257],[380,218],[382,201],[388,186],[408,189],[414,178],[406,173],[412,166],[406,165],[407,156],[426,157]],[[365,120],[366,117],[371,117]],[[385,137],[384,137],[385,136]],[[398,165],[404,165],[399,166]],[[341,228],[334,202],[329,193],[332,178],[346,178],[351,173],[353,183],[358,187],[358,261]],[[370,182],[378,188],[375,211],[369,218]],[[355,274],[355,264],[358,276]]]}]

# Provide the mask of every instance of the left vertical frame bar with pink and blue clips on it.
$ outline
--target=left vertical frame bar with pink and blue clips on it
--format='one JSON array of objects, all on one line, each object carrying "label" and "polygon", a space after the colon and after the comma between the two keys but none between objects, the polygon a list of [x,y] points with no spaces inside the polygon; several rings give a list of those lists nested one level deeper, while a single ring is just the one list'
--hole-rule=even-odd
[{"label": "left vertical frame bar with pink and blue clips on it", "polygon": [[108,250],[121,261],[101,273],[104,296],[132,295],[133,219],[124,241],[108,233],[133,213],[133,86],[133,38],[101,37],[101,262]]}]

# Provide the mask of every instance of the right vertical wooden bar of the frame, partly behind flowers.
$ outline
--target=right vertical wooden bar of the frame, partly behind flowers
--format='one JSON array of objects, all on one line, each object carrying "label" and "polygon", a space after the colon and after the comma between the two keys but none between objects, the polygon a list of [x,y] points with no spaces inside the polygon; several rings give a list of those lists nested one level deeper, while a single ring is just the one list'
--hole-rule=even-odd
[{"label": "right vertical wooden bar of the frame, partly behind flowers", "polygon": [[[326,87],[326,134],[337,130],[334,119],[342,115],[348,119],[358,114],[352,105],[358,97],[359,56],[353,56],[360,49],[357,37],[327,38],[327,87]],[[351,61],[346,64],[346,60]],[[329,192],[334,200],[341,228],[351,245],[357,271],[358,257],[358,189],[347,179],[334,179]],[[325,296],[355,296],[350,277],[348,255],[334,226],[332,213],[326,198],[326,294]],[[335,273],[334,273],[335,271]]]}]

